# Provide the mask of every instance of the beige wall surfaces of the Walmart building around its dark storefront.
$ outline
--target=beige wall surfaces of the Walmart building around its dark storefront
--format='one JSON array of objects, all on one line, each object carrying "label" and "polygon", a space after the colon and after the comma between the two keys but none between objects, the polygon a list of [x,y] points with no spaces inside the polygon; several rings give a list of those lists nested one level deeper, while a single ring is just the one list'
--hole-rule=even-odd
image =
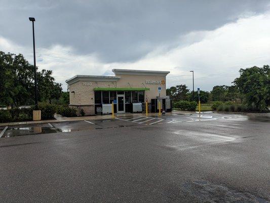
[{"label": "beige wall surfaces of the Walmart building around its dark storefront", "polygon": [[[100,82],[100,81],[79,81],[69,85],[69,104],[70,105],[94,105],[94,88],[96,87],[114,87],[118,88],[150,88],[145,91],[145,99],[150,102],[151,98],[159,96],[158,87],[161,87],[161,97],[166,96],[166,77],[165,76],[143,76],[143,75],[116,75],[121,79],[117,82]],[[165,84],[146,84],[145,80],[165,81]],[[91,86],[83,85],[84,82],[91,82]],[[130,86],[129,86],[129,84]],[[113,85],[114,83],[114,85]],[[143,86],[143,84],[144,86]],[[72,93],[74,91],[74,93]]]}]

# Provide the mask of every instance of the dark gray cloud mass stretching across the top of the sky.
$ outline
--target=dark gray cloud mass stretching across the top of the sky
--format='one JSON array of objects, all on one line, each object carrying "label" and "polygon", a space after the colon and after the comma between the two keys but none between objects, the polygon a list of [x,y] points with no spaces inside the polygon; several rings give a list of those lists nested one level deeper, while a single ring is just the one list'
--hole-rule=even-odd
[{"label": "dark gray cloud mass stretching across the top of the sky", "polygon": [[101,61],[131,62],[157,47],[180,46],[190,31],[213,30],[239,15],[263,13],[268,1],[10,1],[2,0],[0,35],[31,46],[29,16],[36,18],[36,46],[60,44]]}]

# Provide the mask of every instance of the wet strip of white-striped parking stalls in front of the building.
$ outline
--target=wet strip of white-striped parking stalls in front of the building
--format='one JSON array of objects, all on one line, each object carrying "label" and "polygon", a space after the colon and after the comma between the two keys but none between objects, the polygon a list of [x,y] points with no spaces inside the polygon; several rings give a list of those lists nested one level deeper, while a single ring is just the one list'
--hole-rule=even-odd
[{"label": "wet strip of white-striped parking stalls in front of the building", "polygon": [[[33,134],[46,134],[53,132],[71,132],[78,130],[91,130],[115,127],[127,127],[133,125],[153,125],[177,122],[207,121],[213,119],[230,119],[242,117],[242,115],[224,115],[212,112],[199,114],[168,114],[163,116],[119,116],[116,119],[82,120],[56,123],[27,124],[14,126],[0,126],[2,136],[0,138],[27,136]],[[249,119],[254,119],[253,117]],[[268,119],[267,117],[264,119]],[[6,128],[7,127],[7,128]],[[6,129],[5,129],[6,128]],[[5,130],[4,130],[5,129]]]}]

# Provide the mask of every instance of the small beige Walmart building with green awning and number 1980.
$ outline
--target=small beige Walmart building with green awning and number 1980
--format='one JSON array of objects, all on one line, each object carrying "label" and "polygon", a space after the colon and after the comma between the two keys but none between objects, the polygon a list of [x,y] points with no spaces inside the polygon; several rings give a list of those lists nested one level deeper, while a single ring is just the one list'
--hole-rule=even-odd
[{"label": "small beige Walmart building with green awning and number 1980", "polygon": [[84,109],[85,115],[142,112],[145,102],[149,112],[171,111],[171,99],[166,96],[168,71],[113,69],[115,76],[76,75],[68,80],[69,107]]}]

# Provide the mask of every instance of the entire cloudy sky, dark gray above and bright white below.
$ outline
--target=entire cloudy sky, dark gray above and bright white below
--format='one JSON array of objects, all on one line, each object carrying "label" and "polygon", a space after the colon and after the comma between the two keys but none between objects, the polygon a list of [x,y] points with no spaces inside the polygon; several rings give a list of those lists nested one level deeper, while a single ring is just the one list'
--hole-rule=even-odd
[{"label": "entire cloudy sky, dark gray above and bright white below", "polygon": [[270,1],[0,0],[0,50],[74,75],[170,71],[167,87],[231,85],[239,69],[270,64]]}]

